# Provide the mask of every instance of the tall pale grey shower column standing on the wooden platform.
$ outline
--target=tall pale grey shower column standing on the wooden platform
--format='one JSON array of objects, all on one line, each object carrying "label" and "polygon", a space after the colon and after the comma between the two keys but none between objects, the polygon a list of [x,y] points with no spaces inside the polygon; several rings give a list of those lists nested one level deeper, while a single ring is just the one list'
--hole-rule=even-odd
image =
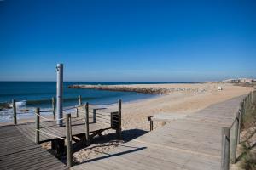
[{"label": "tall pale grey shower column standing on the wooden platform", "polygon": [[57,124],[61,127],[63,121],[60,120],[63,117],[62,112],[62,94],[63,94],[63,64],[57,64]]}]

